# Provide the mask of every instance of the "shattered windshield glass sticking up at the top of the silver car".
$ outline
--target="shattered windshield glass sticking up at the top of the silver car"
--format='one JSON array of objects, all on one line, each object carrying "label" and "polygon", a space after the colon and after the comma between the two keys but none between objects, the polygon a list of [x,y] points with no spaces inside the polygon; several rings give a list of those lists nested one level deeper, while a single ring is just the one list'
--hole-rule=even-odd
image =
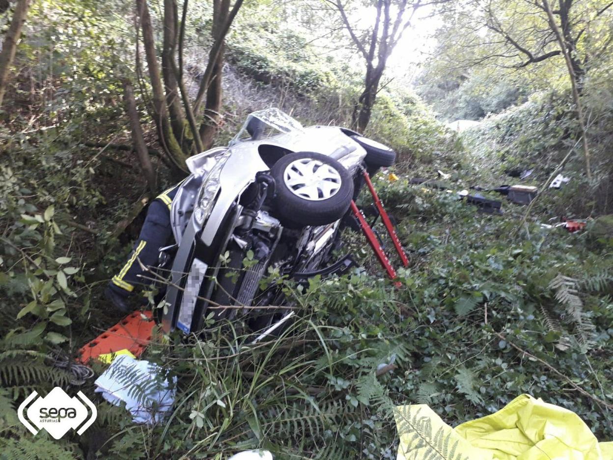
[{"label": "shattered windshield glass sticking up at the top of the silver car", "polygon": [[246,140],[267,139],[278,134],[292,131],[303,131],[299,121],[272,107],[250,113],[238,134],[230,141],[230,145]]}]

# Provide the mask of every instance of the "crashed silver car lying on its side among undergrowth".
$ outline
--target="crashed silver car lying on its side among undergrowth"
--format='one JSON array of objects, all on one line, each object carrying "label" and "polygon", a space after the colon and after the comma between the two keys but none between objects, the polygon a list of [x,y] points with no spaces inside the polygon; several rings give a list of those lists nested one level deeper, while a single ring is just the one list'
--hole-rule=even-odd
[{"label": "crashed silver car lying on its side among undergrowth", "polygon": [[232,319],[237,307],[251,307],[256,330],[285,321],[290,313],[253,308],[284,304],[262,277],[304,282],[348,270],[350,256],[331,259],[362,171],[394,159],[354,131],[304,127],[278,109],[251,113],[229,147],[189,158],[191,175],[172,202],[176,244],[160,254],[170,273],[164,330],[199,331],[211,311]]}]

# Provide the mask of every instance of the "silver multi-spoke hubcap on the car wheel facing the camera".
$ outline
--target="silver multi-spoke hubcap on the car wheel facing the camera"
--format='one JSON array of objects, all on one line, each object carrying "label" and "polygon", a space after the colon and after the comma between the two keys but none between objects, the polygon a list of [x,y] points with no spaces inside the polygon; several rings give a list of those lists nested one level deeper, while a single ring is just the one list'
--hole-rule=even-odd
[{"label": "silver multi-spoke hubcap on the car wheel facing the camera", "polygon": [[283,182],[296,196],[322,201],[334,196],[341,188],[341,175],[318,159],[301,158],[287,165]]}]

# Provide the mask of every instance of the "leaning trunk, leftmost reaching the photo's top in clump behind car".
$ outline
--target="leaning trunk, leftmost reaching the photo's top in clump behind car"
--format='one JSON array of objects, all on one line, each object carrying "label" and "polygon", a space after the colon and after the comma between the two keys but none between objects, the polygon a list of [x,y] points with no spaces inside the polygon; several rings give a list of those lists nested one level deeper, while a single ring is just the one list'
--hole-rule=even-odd
[{"label": "leaning trunk, leftmost reaching the photo's top in clump behind car", "polygon": [[153,28],[151,26],[151,17],[149,15],[149,9],[147,8],[147,2],[145,0],[136,0],[136,7],[140,17],[140,26],[143,31],[143,44],[151,80],[151,92],[153,93],[153,121],[158,128],[159,143],[162,145],[162,148],[172,164],[175,165],[175,168],[178,171],[186,172],[187,167],[185,165],[185,160],[187,159],[187,155],[181,150],[177,138],[170,127],[168,110],[166,109],[166,98],[164,97],[162,81],[159,77],[158,58],[155,52]]}]

